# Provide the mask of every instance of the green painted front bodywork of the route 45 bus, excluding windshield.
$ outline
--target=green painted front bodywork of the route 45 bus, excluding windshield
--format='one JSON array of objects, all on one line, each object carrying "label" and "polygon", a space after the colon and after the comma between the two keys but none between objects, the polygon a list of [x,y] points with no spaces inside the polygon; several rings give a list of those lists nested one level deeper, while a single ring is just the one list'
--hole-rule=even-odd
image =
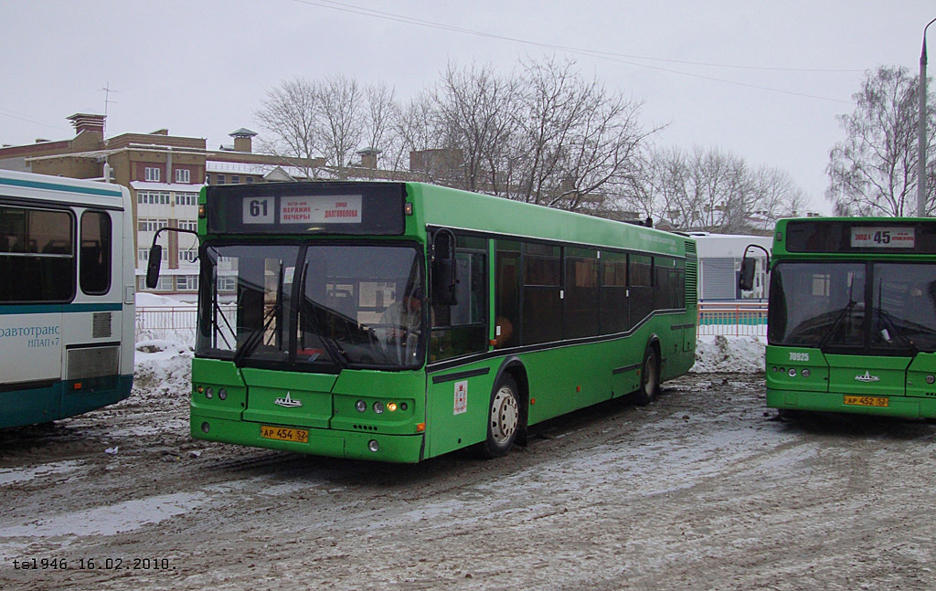
[{"label": "green painted front bodywork of the route 45 bus, excluding windshield", "polygon": [[[936,255],[920,252],[790,252],[786,229],[791,222],[819,221],[899,225],[936,223],[931,218],[810,218],[780,220],[774,231],[771,267],[788,261],[936,263]],[[768,344],[767,406],[774,409],[827,411],[897,417],[936,417],[936,353],[908,356],[824,354],[818,349]],[[804,377],[803,369],[810,375]],[[790,372],[794,375],[789,375]],[[845,396],[886,398],[887,406],[845,404]]]}]

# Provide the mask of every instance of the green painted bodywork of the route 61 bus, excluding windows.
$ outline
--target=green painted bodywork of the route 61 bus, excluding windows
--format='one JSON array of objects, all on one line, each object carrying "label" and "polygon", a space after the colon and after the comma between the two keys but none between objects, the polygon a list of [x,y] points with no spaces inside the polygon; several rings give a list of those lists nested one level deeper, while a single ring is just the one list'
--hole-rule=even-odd
[{"label": "green painted bodywork of the route 61 bus, excluding windows", "polygon": [[[592,216],[531,206],[490,195],[477,195],[422,183],[406,183],[406,201],[413,214],[405,216],[402,237],[380,237],[389,241],[416,240],[423,248],[427,227],[481,232],[505,238],[533,238],[595,248],[643,251],[687,258],[685,238],[627,223],[614,223]],[[205,193],[199,197],[204,202]],[[199,220],[204,236],[205,223]],[[211,236],[209,238],[248,238]],[[276,239],[264,236],[262,239]],[[295,238],[283,235],[279,238]],[[334,235],[306,237],[329,240]],[[352,237],[360,239],[362,237]],[[370,239],[370,238],[369,238]],[[489,293],[494,289],[493,246],[489,243]],[[687,268],[687,278],[690,277]],[[695,281],[695,267],[691,275]],[[687,279],[687,284],[689,280]],[[494,306],[488,311],[493,339]],[[661,379],[684,374],[695,362],[695,287],[686,288],[686,310],[656,313],[626,336],[607,337],[586,343],[557,342],[534,347],[533,351],[489,348],[459,364],[446,360],[415,371],[344,369],[323,375],[235,368],[232,362],[204,358],[193,361],[191,433],[194,438],[224,441],[269,449],[332,457],[413,463],[447,454],[486,439],[490,396],[495,380],[509,362],[526,376],[529,391],[521,409],[528,425],[575,411],[612,397],[634,392],[641,381],[641,364],[653,341],[661,352]],[[212,398],[197,388],[212,388]],[[227,400],[216,395],[227,389]],[[459,389],[466,404],[457,404]],[[284,408],[276,399],[300,400],[302,406]],[[356,408],[363,401],[367,411]],[[373,412],[374,403],[384,408],[395,403],[396,411]],[[308,431],[308,442],[264,439],[262,425],[300,428]],[[375,442],[378,451],[369,450]]]}]

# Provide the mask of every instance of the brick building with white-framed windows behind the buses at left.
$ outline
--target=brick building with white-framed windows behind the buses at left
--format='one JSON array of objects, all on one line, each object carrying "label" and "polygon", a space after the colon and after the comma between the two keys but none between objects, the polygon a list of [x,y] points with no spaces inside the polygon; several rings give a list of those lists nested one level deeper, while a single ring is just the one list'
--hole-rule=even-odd
[{"label": "brick building with white-framed windows behind the buses at left", "polygon": [[[0,168],[73,179],[122,184],[134,201],[137,289],[145,286],[149,247],[163,226],[196,228],[197,195],[206,184],[240,184],[271,180],[308,180],[325,166],[324,158],[286,162],[283,157],[253,151],[256,133],[238,129],[233,146],[209,150],[203,137],[170,136],[168,129],[150,134],[104,137],[104,115],[76,113],[67,118],[75,137],[61,141],[0,148]],[[164,232],[164,271],[156,291],[197,290],[197,238]]]}]

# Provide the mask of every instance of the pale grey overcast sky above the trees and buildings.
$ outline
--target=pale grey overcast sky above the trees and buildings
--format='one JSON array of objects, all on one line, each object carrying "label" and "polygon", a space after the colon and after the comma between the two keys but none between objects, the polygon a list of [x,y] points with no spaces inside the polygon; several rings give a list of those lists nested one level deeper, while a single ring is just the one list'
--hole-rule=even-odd
[{"label": "pale grey overcast sky above the trees and buildings", "polygon": [[[932,0],[0,0],[0,144],[73,137],[66,117],[103,112],[106,86],[108,137],[166,127],[217,148],[262,136],[254,112],[285,79],[342,73],[406,99],[449,62],[507,74],[555,54],[644,101],[656,144],[782,169],[828,212],[836,115],[869,69],[915,76],[934,17]],[[936,25],[929,41],[931,79]]]}]

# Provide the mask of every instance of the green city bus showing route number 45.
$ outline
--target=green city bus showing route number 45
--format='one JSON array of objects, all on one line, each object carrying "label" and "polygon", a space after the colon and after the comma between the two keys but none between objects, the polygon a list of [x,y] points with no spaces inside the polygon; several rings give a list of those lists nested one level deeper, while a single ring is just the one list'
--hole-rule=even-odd
[{"label": "green city bus showing route number 45", "polygon": [[781,220],[770,268],[768,407],[936,417],[936,220]]}]

